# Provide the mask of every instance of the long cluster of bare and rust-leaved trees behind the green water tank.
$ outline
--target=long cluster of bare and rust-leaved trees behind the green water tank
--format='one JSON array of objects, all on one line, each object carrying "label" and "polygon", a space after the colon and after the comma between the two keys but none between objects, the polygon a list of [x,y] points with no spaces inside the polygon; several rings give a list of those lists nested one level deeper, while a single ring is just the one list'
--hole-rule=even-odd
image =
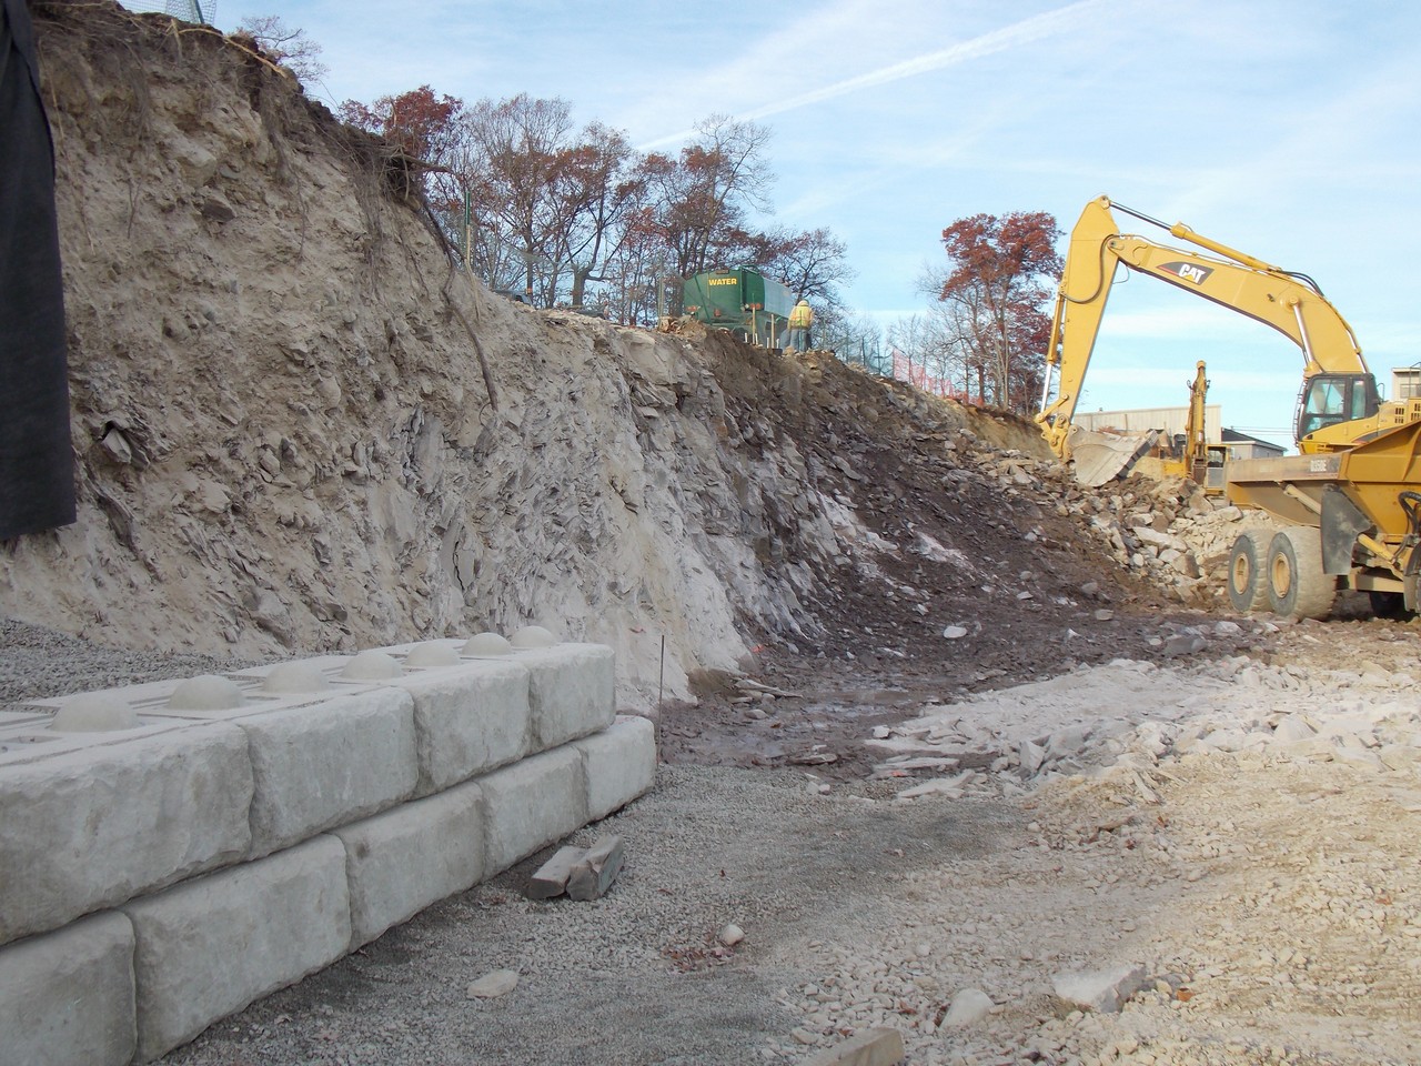
[{"label": "long cluster of bare and rust-leaved trees behind the green water tank", "polygon": [[769,131],[712,115],[679,152],[635,152],[621,131],[577,128],[571,105],[519,94],[472,107],[428,85],[342,121],[378,134],[421,169],[423,192],[466,266],[537,306],[594,306],[654,321],[668,279],[750,263],[821,314],[850,277],[827,229],[760,230]]}]

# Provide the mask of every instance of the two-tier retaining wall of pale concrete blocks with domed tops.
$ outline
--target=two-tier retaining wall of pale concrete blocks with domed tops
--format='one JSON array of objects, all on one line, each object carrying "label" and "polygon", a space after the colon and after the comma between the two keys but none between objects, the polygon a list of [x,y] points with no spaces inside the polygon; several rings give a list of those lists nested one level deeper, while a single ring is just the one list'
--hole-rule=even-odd
[{"label": "two-tier retaining wall of pale concrete blocks with domed tops", "polygon": [[159,1057],[651,787],[610,648],[462,647],[0,716],[0,1057]]}]

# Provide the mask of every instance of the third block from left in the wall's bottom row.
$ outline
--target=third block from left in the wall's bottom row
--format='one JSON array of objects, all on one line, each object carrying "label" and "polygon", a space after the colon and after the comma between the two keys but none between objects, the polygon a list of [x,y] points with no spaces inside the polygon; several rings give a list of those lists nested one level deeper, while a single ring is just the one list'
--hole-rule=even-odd
[{"label": "third block from left in the wall's bottom row", "polygon": [[483,880],[483,793],[458,785],[335,830],[345,844],[351,949]]}]

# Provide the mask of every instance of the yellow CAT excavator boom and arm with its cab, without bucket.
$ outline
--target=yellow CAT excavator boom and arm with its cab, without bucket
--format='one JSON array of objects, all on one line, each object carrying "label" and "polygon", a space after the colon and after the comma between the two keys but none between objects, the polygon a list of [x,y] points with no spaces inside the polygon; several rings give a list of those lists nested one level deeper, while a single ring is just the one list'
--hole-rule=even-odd
[{"label": "yellow CAT excavator boom and arm with its cab, without bucket", "polygon": [[[1160,226],[1171,236],[1212,254],[1121,233],[1111,208]],[[1052,449],[1061,458],[1069,458],[1071,418],[1080,402],[1110,287],[1121,263],[1130,270],[1256,318],[1293,341],[1303,354],[1303,409],[1309,404],[1320,408],[1310,422],[1299,418],[1299,438],[1377,414],[1376,381],[1367,370],[1351,327],[1312,279],[1199,236],[1184,223],[1168,226],[1130,208],[1111,205],[1108,198],[1100,196],[1086,205],[1080,222],[1071,230],[1046,350],[1042,411],[1036,416]],[[1057,377],[1059,387],[1052,399],[1052,382]],[[1326,445],[1316,443],[1317,451],[1324,448]]]}]

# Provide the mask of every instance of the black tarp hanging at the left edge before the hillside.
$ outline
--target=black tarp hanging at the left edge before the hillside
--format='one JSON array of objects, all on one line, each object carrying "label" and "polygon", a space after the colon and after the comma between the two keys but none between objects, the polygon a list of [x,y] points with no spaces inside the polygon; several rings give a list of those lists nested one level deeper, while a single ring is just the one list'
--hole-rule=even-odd
[{"label": "black tarp hanging at the left edge before the hillside", "polygon": [[0,540],[74,522],[54,145],[24,0],[0,0]]}]

